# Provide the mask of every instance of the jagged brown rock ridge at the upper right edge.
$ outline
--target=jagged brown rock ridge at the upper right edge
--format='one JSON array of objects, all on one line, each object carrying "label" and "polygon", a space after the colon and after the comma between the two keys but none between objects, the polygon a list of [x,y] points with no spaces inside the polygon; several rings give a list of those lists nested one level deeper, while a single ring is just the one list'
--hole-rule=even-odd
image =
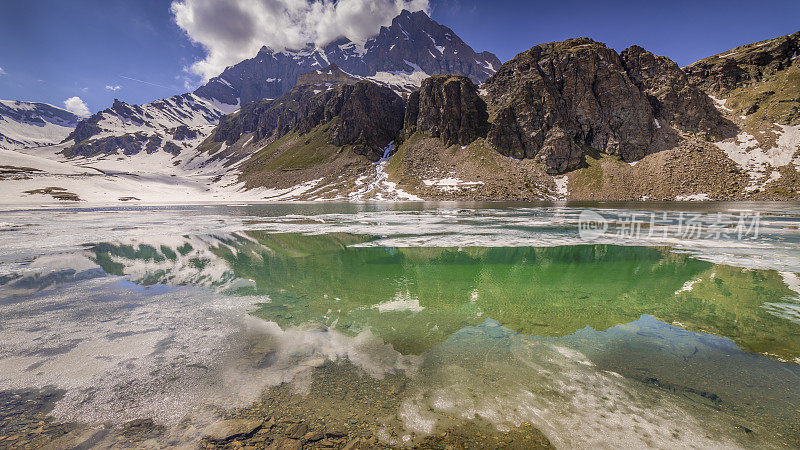
[{"label": "jagged brown rock ridge at the upper right edge", "polygon": [[790,67],[800,54],[800,32],[736,47],[684,68],[689,80],[706,92],[725,96],[743,85]]}]

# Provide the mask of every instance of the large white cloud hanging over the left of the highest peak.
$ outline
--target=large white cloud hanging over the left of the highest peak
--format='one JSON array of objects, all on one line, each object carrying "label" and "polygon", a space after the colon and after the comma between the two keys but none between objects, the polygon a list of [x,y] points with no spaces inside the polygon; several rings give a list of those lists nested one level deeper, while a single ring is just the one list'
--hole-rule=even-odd
[{"label": "large white cloud hanging over the left of the highest peak", "polygon": [[364,41],[403,9],[428,10],[428,0],[175,0],[175,22],[207,51],[191,72],[208,80],[225,67],[275,50],[325,45],[340,36]]}]

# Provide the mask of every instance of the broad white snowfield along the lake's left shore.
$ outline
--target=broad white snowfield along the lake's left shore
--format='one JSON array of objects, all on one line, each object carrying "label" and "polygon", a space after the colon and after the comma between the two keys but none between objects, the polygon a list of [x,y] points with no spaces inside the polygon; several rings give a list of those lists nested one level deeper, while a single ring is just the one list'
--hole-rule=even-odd
[{"label": "broad white snowfield along the lake's left shore", "polygon": [[245,190],[238,163],[210,155],[165,151],[66,158],[66,144],[22,151],[2,150],[14,170],[0,172],[0,204],[173,204],[264,201],[267,189]]}]

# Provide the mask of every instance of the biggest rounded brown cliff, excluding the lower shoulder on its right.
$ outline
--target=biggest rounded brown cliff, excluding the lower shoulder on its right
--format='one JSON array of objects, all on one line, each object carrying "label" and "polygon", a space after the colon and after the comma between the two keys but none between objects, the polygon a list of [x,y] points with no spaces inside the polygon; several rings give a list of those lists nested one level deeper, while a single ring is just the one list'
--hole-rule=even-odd
[{"label": "biggest rounded brown cliff, excluding the lower shoulder on its right", "polygon": [[514,158],[537,158],[551,173],[578,168],[599,151],[635,161],[654,137],[653,109],[619,55],[587,38],[537,45],[484,85],[487,139]]}]

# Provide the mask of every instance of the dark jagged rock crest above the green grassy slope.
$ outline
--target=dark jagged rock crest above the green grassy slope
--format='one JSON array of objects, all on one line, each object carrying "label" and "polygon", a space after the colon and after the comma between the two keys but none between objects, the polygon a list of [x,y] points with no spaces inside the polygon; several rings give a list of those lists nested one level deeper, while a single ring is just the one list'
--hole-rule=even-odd
[{"label": "dark jagged rock crest above the green grassy slope", "polygon": [[356,153],[377,160],[403,127],[403,100],[389,88],[347,77],[335,66],[300,81],[279,99],[253,102],[225,117],[210,139],[232,145],[253,133],[256,142],[275,140],[331,122],[333,145],[353,146]]}]

